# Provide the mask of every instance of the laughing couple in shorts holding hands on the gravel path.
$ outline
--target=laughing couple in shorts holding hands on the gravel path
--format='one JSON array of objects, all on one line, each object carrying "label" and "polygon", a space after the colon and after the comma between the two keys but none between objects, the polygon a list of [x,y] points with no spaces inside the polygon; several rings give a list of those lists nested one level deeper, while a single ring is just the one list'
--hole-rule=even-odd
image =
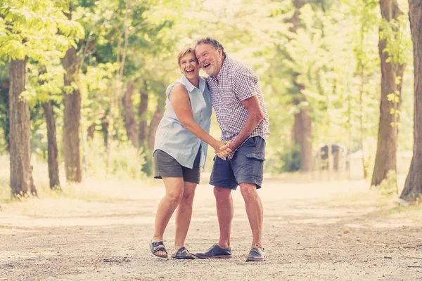
[{"label": "laughing couple in shorts holding hands on the gravel path", "polygon": [[[257,189],[262,185],[269,126],[260,80],[250,68],[229,58],[222,44],[210,37],[199,40],[195,49],[184,48],[177,61],[181,77],[167,88],[166,110],[155,136],[154,177],[162,178],[166,192],[158,204],[151,252],[167,258],[162,237],[177,209],[172,258],[231,258],[231,190],[240,185],[253,237],[246,261],[264,261],[263,212]],[[199,76],[200,68],[208,74],[207,81]],[[222,141],[209,134],[212,107]],[[210,185],[214,185],[217,202],[219,242],[204,253],[192,254],[184,242],[207,145],[217,155]]]}]

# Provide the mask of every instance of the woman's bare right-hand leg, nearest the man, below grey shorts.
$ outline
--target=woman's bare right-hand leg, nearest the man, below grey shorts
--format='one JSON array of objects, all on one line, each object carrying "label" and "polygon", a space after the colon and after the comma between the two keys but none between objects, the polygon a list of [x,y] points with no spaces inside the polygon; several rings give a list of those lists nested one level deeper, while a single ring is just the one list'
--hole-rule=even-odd
[{"label": "woman's bare right-hand leg, nearest the man, below grey shorts", "polygon": [[195,196],[196,183],[184,182],[183,196],[176,211],[176,237],[174,239],[174,251],[184,247],[186,235],[192,217],[192,203]]}]

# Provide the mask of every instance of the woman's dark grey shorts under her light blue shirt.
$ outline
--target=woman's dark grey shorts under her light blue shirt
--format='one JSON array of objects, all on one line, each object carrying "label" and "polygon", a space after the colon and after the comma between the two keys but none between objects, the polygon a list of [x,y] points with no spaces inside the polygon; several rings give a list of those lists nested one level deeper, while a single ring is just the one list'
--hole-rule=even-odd
[{"label": "woman's dark grey shorts under her light blue shirt", "polygon": [[176,159],[162,150],[154,152],[154,178],[183,178],[188,183],[199,183],[200,179],[200,148],[196,154],[192,169],[181,166]]}]

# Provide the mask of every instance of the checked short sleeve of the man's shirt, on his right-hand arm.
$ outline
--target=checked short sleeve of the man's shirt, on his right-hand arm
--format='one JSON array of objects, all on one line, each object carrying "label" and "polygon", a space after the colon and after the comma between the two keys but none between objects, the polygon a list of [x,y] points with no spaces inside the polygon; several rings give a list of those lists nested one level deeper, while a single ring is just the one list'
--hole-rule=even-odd
[{"label": "checked short sleeve of the man's shirt, on his right-hand arm", "polygon": [[238,67],[234,71],[233,92],[239,100],[246,100],[258,94],[257,86],[260,81],[257,74],[248,67]]}]

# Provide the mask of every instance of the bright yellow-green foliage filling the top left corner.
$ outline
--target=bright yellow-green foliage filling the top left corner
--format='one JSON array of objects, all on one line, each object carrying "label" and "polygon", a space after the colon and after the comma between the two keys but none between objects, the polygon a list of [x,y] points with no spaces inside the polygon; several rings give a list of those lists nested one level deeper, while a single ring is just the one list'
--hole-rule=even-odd
[{"label": "bright yellow-green foliage filling the top left corner", "polygon": [[4,0],[0,6],[0,61],[63,57],[84,31],[65,15],[68,1]]}]

